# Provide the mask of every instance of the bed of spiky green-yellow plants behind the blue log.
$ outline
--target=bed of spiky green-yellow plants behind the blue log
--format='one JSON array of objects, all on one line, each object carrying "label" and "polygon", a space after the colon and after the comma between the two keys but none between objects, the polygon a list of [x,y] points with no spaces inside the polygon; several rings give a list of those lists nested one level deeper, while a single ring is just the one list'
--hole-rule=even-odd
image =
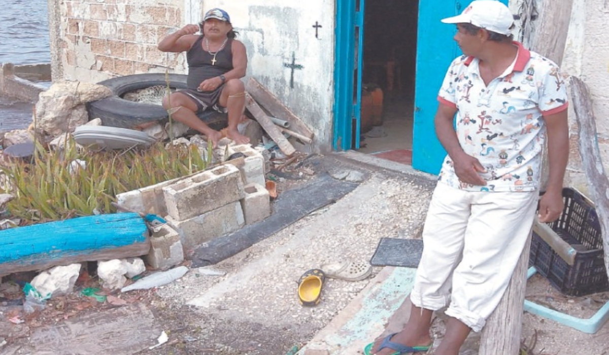
[{"label": "bed of spiky green-yellow plants behind the blue log", "polygon": [[72,140],[63,150],[46,151],[38,141],[35,147],[31,164],[0,167],[0,192],[15,195],[7,209],[21,225],[114,213],[117,194],[204,170],[210,161],[194,144],[121,152],[79,150]]}]

